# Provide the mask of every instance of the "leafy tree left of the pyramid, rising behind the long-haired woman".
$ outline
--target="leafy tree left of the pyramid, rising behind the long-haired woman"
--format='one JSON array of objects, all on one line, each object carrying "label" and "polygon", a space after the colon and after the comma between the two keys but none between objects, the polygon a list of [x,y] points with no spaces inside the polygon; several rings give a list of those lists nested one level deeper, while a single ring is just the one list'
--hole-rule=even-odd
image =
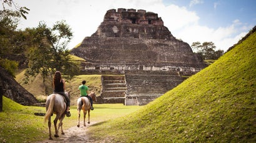
[{"label": "leafy tree left of the pyramid, rising behind the long-haired woman", "polygon": [[43,83],[45,78],[59,70],[67,79],[73,78],[79,71],[79,65],[71,61],[68,42],[73,36],[69,25],[65,21],[58,21],[49,28],[44,22],[39,22],[38,27],[26,29],[31,36],[31,48],[27,53],[28,70],[26,76],[41,73]]}]

